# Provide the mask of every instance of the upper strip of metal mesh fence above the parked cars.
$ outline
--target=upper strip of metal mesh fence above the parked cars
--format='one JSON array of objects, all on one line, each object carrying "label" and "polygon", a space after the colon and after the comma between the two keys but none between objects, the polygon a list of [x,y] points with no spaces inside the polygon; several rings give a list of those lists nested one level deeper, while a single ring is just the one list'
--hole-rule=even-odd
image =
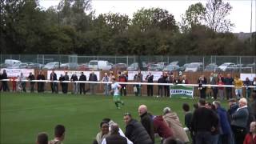
[{"label": "upper strip of metal mesh fence above the parked cars", "polygon": [[[251,73],[256,73],[255,63],[256,56],[161,56],[161,55],[153,55],[153,56],[84,56],[84,55],[58,55],[58,54],[0,54],[0,63],[4,63],[6,59],[15,59],[20,60],[21,62],[36,62],[45,65],[48,62],[60,62],[60,63],[88,63],[90,60],[105,60],[111,62],[113,64],[116,63],[126,63],[127,66],[134,62],[174,62],[177,61],[179,66],[183,66],[186,63],[190,62],[202,62],[202,70],[204,70],[205,66],[210,63],[215,63],[218,66],[224,62],[233,62],[235,64],[242,64],[242,66],[246,67],[251,64],[251,69],[249,70]],[[240,71],[242,72],[243,69]]]}]

